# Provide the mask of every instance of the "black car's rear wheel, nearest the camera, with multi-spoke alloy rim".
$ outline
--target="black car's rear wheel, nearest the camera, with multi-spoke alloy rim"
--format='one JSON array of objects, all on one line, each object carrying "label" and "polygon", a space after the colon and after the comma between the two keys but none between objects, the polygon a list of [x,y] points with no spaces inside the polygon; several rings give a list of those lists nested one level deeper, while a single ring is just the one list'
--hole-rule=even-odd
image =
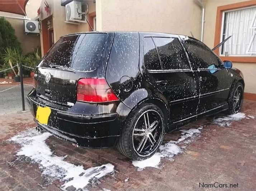
[{"label": "black car's rear wheel, nearest the camera, with multi-spoke alloy rim", "polygon": [[165,116],[158,106],[139,105],[126,120],[117,143],[118,150],[132,160],[150,158],[162,144],[166,124]]}]

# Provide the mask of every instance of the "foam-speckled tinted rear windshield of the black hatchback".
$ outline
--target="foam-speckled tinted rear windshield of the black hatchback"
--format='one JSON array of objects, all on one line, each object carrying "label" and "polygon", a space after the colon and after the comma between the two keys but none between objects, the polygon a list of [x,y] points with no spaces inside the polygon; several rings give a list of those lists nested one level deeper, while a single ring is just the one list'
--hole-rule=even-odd
[{"label": "foam-speckled tinted rear windshield of the black hatchback", "polygon": [[106,34],[64,36],[53,45],[39,66],[93,71],[98,67],[107,37]]}]

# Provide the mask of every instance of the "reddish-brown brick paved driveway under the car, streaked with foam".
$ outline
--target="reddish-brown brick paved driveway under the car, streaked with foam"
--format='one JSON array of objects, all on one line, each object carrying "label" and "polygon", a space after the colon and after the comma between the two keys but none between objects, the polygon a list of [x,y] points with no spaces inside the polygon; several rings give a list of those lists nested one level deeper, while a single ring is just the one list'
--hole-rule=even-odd
[{"label": "reddish-brown brick paved driveway under the car, streaked with foam", "polygon": [[29,112],[3,115],[0,190],[255,190],[256,102],[245,101],[241,112],[166,134],[155,160],[143,163],[115,148],[85,149],[37,135]]}]

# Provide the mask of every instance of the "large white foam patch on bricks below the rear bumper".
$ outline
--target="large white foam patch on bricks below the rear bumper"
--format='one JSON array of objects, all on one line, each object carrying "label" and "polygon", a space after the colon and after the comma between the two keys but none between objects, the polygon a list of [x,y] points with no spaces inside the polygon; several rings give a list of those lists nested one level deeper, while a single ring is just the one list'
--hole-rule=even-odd
[{"label": "large white foam patch on bricks below the rear bumper", "polygon": [[99,179],[114,171],[112,164],[84,169],[82,165],[74,165],[64,161],[66,156],[59,157],[52,153],[46,140],[51,136],[49,133],[38,135],[34,129],[29,129],[10,139],[18,143],[21,148],[16,153],[18,156],[29,157],[32,162],[39,164],[41,172],[46,177],[59,179],[65,183],[61,186],[65,190],[69,186],[83,189],[90,180]]}]

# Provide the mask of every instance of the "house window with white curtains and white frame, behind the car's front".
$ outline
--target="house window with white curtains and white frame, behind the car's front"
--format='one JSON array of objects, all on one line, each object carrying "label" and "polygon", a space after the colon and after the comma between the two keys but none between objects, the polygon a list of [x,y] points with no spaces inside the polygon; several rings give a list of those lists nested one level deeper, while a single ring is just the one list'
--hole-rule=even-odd
[{"label": "house window with white curtains and white frame, behind the car's front", "polygon": [[256,7],[223,12],[221,55],[256,56]]}]

